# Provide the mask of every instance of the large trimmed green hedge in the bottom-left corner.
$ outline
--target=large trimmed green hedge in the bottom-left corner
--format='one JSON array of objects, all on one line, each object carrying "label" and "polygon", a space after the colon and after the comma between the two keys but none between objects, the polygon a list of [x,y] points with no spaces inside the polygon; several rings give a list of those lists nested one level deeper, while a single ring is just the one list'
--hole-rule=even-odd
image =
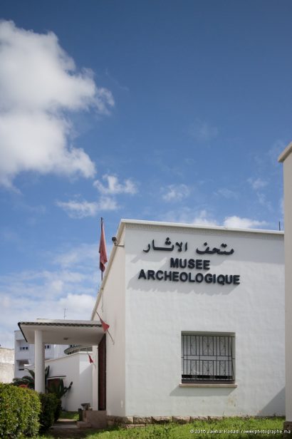
[{"label": "large trimmed green hedge in the bottom-left corner", "polygon": [[36,437],[41,403],[38,393],[0,383],[0,438]]}]

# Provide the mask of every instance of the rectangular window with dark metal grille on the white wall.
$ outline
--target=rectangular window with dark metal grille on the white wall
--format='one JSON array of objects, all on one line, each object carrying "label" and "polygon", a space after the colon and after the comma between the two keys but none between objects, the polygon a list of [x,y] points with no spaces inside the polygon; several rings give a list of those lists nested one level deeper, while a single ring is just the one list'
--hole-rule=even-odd
[{"label": "rectangular window with dark metal grille on the white wall", "polygon": [[182,383],[234,383],[234,339],[225,334],[182,334]]}]

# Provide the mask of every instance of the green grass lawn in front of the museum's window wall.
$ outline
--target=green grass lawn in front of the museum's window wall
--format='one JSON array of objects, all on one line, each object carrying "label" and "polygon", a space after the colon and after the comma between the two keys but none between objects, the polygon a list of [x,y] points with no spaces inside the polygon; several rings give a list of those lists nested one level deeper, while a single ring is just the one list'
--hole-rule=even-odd
[{"label": "green grass lawn in front of the museum's window wall", "polygon": [[[86,439],[210,439],[210,438],[289,438],[283,435],[283,418],[225,418],[189,424],[149,425],[146,428],[108,428],[85,433]],[[41,438],[53,438],[51,435]]]}]

